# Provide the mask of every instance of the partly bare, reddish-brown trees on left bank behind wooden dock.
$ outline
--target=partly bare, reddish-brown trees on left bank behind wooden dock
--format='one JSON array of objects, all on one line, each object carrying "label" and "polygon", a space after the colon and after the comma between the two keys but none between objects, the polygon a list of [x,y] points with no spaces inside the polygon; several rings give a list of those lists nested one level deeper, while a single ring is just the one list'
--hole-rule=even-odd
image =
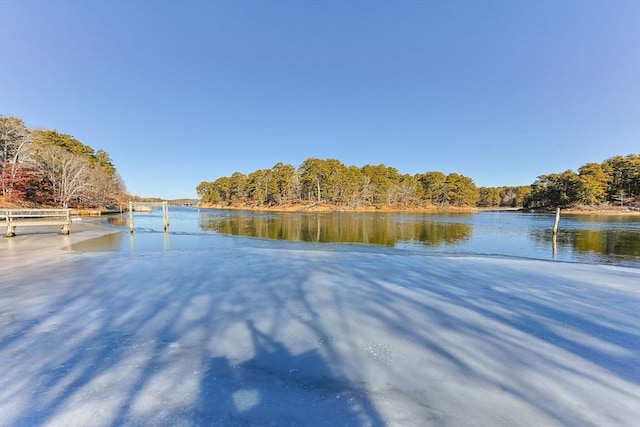
[{"label": "partly bare, reddish-brown trees on left bank behind wooden dock", "polygon": [[125,186],[106,151],[0,116],[0,190],[4,204],[110,208]]}]

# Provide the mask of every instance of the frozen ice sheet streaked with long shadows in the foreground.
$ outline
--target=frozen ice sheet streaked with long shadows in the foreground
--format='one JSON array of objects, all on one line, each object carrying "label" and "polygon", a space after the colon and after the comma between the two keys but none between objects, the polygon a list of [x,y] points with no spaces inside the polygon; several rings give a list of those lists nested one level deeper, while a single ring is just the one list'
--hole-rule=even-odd
[{"label": "frozen ice sheet streaked with long shadows in the foreground", "polygon": [[27,258],[0,260],[2,426],[640,420],[638,269],[277,245]]}]

